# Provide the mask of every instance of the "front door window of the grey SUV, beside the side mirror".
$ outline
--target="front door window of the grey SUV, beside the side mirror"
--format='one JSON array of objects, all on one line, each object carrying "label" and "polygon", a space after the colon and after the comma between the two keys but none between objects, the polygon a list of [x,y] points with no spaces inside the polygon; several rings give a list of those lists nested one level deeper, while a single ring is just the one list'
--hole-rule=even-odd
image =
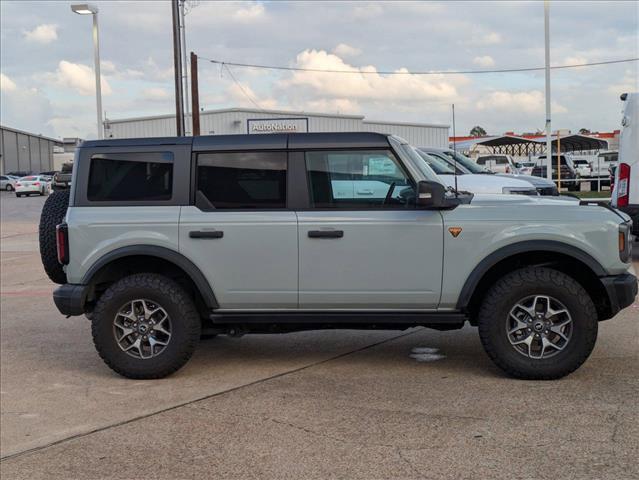
[{"label": "front door window of the grey SUV, beside the side mirror", "polygon": [[311,205],[317,208],[386,208],[414,198],[409,177],[390,151],[306,153]]}]

